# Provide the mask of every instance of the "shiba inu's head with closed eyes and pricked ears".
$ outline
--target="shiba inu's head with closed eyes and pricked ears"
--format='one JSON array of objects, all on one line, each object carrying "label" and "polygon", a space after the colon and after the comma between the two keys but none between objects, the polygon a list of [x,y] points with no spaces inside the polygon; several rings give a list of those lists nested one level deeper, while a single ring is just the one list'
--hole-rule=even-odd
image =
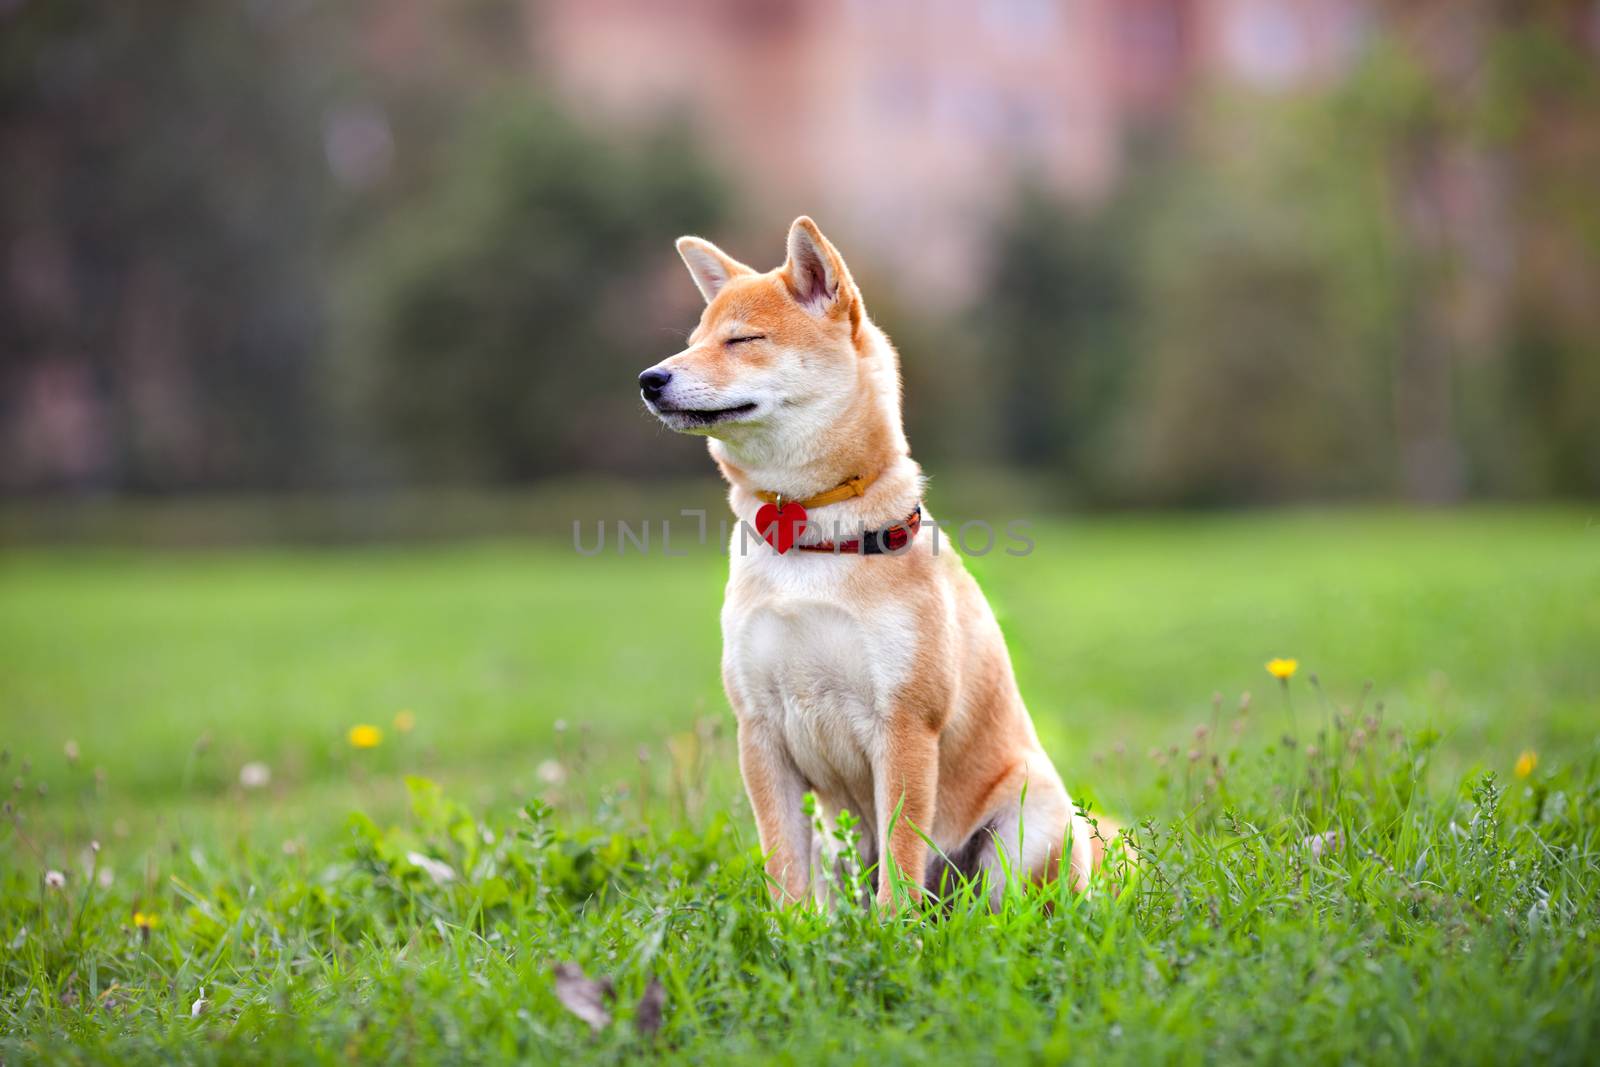
[{"label": "shiba inu's head with closed eyes and pricked ears", "polygon": [[789,258],[758,274],[699,237],[678,254],[706,296],[690,347],[638,376],[645,406],[680,434],[798,443],[830,427],[858,387],[862,306],[816,222],[789,227]]}]

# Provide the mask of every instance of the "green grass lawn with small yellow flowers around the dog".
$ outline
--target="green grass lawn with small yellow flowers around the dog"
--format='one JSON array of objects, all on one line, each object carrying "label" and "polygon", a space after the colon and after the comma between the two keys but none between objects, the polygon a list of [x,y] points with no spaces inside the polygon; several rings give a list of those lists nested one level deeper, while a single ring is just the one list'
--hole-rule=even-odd
[{"label": "green grass lawn with small yellow flowers around the dog", "polygon": [[[715,557],[13,552],[0,1057],[1594,1059],[1589,514],[1035,536],[971,566],[1069,789],[1142,861],[998,915],[768,909]],[[613,977],[618,1022],[571,1016],[555,961]]]}]

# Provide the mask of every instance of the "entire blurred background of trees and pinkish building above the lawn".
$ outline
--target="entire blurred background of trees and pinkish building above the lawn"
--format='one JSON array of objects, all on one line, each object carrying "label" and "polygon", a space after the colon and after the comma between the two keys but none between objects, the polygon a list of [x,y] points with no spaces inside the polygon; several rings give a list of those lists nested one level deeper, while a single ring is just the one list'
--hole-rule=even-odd
[{"label": "entire blurred background of trees and pinkish building above the lawn", "polygon": [[936,469],[1600,491],[1600,3],[0,3],[0,491],[706,474],[672,238],[818,218]]}]

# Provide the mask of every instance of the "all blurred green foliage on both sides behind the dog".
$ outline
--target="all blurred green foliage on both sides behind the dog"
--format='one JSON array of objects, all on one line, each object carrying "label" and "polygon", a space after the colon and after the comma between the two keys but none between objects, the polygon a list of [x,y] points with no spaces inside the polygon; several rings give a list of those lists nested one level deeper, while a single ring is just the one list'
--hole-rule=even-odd
[{"label": "all blurred green foliage on both sides behind the dog", "polygon": [[[787,218],[688,123],[565,114],[530,11],[394,16],[437,37],[397,66],[379,8],[8,10],[0,488],[704,474],[632,389],[698,312],[670,238],[770,266]],[[835,232],[918,456],[1110,504],[1600,491],[1584,11],[1378,3],[1326,83],[1197,85],[1109,202],[1019,182],[966,307]]]}]

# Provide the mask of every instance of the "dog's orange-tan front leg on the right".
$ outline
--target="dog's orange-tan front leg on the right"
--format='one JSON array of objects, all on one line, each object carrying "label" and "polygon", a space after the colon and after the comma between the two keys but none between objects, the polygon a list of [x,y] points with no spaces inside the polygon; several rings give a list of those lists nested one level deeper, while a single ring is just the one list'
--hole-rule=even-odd
[{"label": "dog's orange-tan front leg on the right", "polygon": [[878,904],[893,907],[890,864],[912,896],[922,894],[939,785],[939,734],[918,713],[890,720],[883,752],[874,773],[878,816]]}]

